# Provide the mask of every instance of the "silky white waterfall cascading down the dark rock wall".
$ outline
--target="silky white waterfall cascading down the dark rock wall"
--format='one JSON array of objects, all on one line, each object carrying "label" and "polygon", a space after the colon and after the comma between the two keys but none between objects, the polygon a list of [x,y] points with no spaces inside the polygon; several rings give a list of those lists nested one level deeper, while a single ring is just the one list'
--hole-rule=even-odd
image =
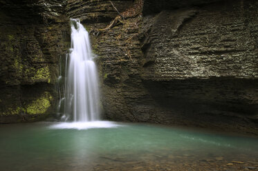
[{"label": "silky white waterfall cascading down the dark rock wall", "polygon": [[73,121],[99,119],[98,72],[93,61],[89,33],[77,19],[71,19],[71,52],[66,64],[64,114]]}]

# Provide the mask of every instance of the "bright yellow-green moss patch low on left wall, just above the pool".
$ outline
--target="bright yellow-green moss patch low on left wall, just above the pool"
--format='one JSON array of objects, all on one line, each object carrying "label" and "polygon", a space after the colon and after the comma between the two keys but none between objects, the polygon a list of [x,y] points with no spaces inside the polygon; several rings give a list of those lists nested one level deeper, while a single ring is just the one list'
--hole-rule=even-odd
[{"label": "bright yellow-green moss patch low on left wall, just above the pool", "polygon": [[50,101],[52,99],[51,95],[48,92],[45,92],[42,97],[39,97],[39,99],[27,106],[26,112],[28,114],[44,114],[50,107]]}]

